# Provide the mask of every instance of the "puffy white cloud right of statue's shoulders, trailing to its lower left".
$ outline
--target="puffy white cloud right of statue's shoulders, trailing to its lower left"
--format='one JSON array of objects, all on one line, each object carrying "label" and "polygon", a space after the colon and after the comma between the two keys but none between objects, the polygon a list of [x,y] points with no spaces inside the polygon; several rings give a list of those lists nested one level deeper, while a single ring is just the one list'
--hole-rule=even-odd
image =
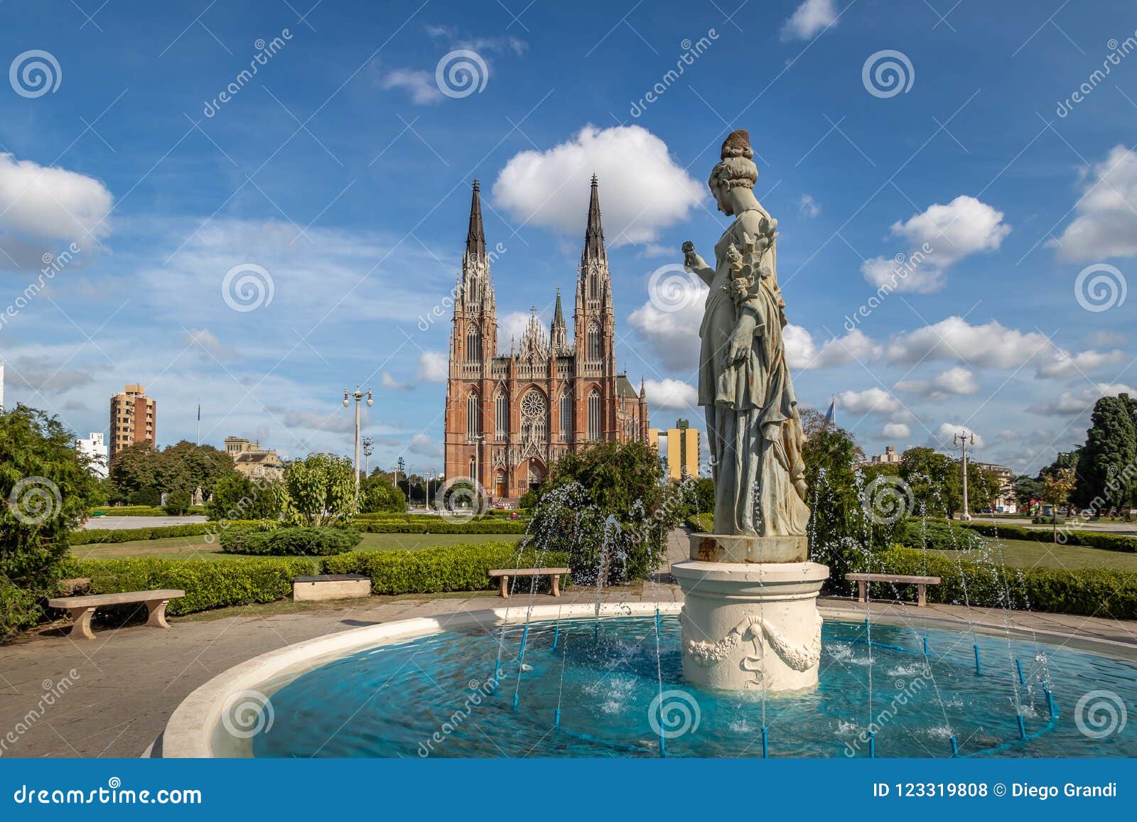
[{"label": "puffy white cloud right of statue's shoulders, trailing to its lower left", "polygon": [[912,249],[903,259],[873,257],[861,265],[864,279],[896,291],[929,293],[944,287],[947,268],[979,251],[994,251],[1011,232],[1003,213],[961,194],[949,204],[935,204],[906,222],[893,223],[893,236]]}]

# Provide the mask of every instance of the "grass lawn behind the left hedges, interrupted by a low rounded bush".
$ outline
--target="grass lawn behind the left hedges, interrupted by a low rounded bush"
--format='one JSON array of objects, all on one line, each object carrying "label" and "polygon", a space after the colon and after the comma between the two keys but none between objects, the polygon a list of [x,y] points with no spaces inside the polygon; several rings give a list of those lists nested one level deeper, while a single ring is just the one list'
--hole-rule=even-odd
[{"label": "grass lawn behind the left hedges, interrupted by a low rounded bush", "polygon": [[[365,533],[356,547],[360,551],[416,550],[433,546],[481,542],[517,542],[520,533]],[[122,559],[124,557],[163,557],[165,559],[216,559],[238,554],[222,554],[215,539],[213,545],[201,537],[167,537],[135,542],[72,546],[78,559]]]}]

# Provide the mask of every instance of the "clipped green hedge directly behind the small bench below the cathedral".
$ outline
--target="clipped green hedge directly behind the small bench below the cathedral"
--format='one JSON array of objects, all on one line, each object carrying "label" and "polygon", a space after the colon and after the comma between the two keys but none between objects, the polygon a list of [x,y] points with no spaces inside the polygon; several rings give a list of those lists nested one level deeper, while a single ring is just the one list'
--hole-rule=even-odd
[{"label": "clipped green hedge directly behind the small bench below the cathedral", "polygon": [[[553,551],[537,555],[526,550],[517,558],[512,542],[455,545],[418,550],[354,551],[324,559],[324,573],[364,574],[371,578],[373,593],[437,593],[440,591],[483,591],[497,587],[487,576],[491,568],[567,567],[568,557]],[[540,576],[539,588],[548,587]],[[522,578],[517,590],[529,591],[530,579]]]}]

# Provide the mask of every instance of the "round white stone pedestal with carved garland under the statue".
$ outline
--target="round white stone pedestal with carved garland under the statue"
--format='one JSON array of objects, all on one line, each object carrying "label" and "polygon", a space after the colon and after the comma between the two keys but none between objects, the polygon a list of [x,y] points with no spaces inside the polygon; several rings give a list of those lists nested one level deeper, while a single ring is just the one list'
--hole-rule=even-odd
[{"label": "round white stone pedestal with carved garland under the statue", "polygon": [[683,589],[683,676],[702,688],[771,692],[818,684],[818,592],[829,568],[811,562],[684,559],[671,573]]}]

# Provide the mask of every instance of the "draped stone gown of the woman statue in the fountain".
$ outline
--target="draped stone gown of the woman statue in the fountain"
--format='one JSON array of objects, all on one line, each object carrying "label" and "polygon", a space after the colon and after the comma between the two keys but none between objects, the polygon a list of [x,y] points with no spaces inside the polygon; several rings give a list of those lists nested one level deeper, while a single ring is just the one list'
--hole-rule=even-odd
[{"label": "draped stone gown of the woman statue in the fountain", "polygon": [[[769,214],[750,208],[735,218],[715,246],[715,272],[699,329],[699,405],[706,409],[715,483],[714,533],[760,537],[804,534],[804,435],[786,364],[785,314],[777,293],[775,250],[762,258],[771,276],[741,306],[723,290],[730,280],[727,249],[744,248]],[[755,317],[750,352],[728,363],[740,312]],[[757,508],[756,508],[757,504]]]}]

